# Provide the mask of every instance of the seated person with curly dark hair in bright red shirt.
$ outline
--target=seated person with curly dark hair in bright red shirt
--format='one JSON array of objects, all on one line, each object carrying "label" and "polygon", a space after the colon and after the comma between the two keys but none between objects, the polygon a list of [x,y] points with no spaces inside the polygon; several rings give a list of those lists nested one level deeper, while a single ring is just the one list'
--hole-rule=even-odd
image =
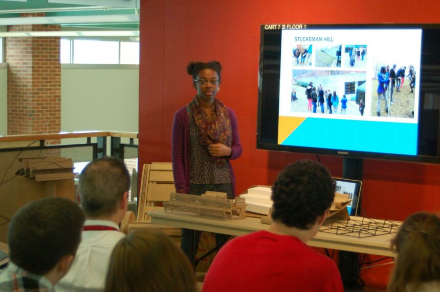
[{"label": "seated person with curly dark hair in bright red shirt", "polygon": [[333,260],[305,244],[324,222],[335,185],[317,162],[285,167],[272,186],[273,224],[229,241],[211,264],[203,291],[342,292]]}]

